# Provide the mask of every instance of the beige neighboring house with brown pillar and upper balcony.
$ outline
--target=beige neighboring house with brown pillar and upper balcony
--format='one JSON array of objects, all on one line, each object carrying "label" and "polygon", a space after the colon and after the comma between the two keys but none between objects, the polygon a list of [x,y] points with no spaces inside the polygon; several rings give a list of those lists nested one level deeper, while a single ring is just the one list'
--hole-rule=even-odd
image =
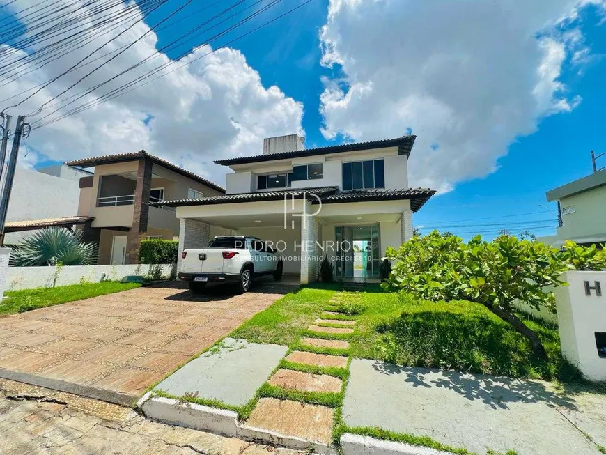
[{"label": "beige neighboring house with brown pillar and upper balcony", "polygon": [[[219,185],[146,151],[65,164],[95,167],[92,176],[79,181],[77,215],[91,218],[82,228],[84,240],[98,243],[100,264],[137,263],[141,240],[178,237],[175,209],[164,206],[164,199],[199,199],[225,193]],[[150,201],[159,204],[150,207]]]}]

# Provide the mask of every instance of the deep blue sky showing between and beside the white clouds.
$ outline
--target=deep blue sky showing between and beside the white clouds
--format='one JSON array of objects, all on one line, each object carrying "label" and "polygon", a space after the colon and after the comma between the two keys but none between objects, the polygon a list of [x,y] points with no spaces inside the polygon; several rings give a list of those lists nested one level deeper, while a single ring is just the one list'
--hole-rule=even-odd
[{"label": "deep blue sky showing between and beside the white clouds", "polygon": [[[233,45],[258,70],[265,86],[276,84],[286,95],[304,103],[308,146],[343,139],[327,141],[320,133],[321,77],[339,75],[339,68],[320,65],[319,30],[326,23],[327,7],[327,1],[314,0],[300,13]],[[593,59],[582,70],[565,64],[560,77],[570,93],[582,97],[580,105],[570,113],[544,118],[534,134],[518,137],[508,154],[498,160],[495,173],[458,183],[453,191],[433,197],[414,216],[416,226],[425,226],[422,231],[435,227],[466,238],[472,232],[494,236],[499,229],[512,233],[529,229],[537,236],[555,233],[553,227],[534,227],[557,224],[557,206],[545,200],[545,192],[586,176],[591,172],[589,152],[606,151],[606,134],[600,126],[606,106],[606,59],[600,57],[606,55],[606,25],[600,24],[594,8],[586,8],[582,15],[580,24]],[[161,42],[164,39],[170,39],[170,33],[160,33]],[[403,125],[403,133],[405,128]],[[419,151],[413,149],[413,153]]]}]

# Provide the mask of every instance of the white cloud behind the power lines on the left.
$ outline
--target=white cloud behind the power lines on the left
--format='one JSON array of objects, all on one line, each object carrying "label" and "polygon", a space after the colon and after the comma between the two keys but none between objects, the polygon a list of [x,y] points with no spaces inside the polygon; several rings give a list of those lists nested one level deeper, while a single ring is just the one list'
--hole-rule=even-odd
[{"label": "white cloud behind the power lines on the left", "polygon": [[[8,8],[13,11],[22,10],[36,2],[37,0],[17,0]],[[6,3],[6,0],[0,3]],[[59,7],[59,3],[68,5],[72,1],[56,1],[54,6]],[[84,0],[81,1],[79,8],[84,8],[84,3],[86,3]],[[121,4],[114,10],[123,10],[126,7],[126,4]],[[129,24],[135,20],[133,16]],[[27,22],[25,24],[27,25]],[[80,47],[77,52],[52,61],[41,70],[23,75],[17,81],[0,88],[0,99],[8,98],[61,74],[93,49],[102,45],[109,37],[117,36],[126,26],[121,26],[106,35],[101,35],[100,29],[88,31],[89,36],[94,37],[91,43]],[[177,33],[185,32],[178,27],[175,30]],[[143,22],[137,24],[105,46],[102,51],[94,54],[91,59],[112,51],[117,53],[118,48],[136,40],[146,31],[149,31],[146,24]],[[56,39],[60,38],[62,36],[56,37]],[[103,65],[61,100],[92,88],[133,63],[152,55],[156,51],[156,45],[155,33],[150,33],[114,61]],[[220,157],[262,153],[263,137],[303,133],[301,126],[303,107],[300,102],[288,98],[276,86],[265,88],[258,72],[247,64],[244,55],[237,50],[219,49],[214,54],[194,61],[208,52],[210,52],[208,46],[195,49],[192,54],[171,65],[169,69],[177,68],[187,61],[192,62],[190,65],[93,109],[34,130],[28,139],[28,144],[52,160],[70,160],[144,148],[149,153],[160,155],[222,184],[226,168],[210,164],[213,160]],[[104,60],[107,59],[109,56]],[[61,77],[24,105],[9,109],[9,113],[16,116],[35,111],[42,102],[61,93],[104,60],[95,61],[81,70]],[[107,86],[96,89],[91,95],[65,109],[95,100],[100,95],[168,61],[168,57],[164,54],[156,56],[136,70],[118,77]],[[0,86],[4,82],[6,80],[0,81]],[[0,108],[21,100],[23,96],[3,102]],[[56,107],[47,107],[42,112],[42,116],[54,109]],[[29,121],[36,121],[40,117],[29,118]],[[145,120],[148,120],[148,124],[144,122]]]}]

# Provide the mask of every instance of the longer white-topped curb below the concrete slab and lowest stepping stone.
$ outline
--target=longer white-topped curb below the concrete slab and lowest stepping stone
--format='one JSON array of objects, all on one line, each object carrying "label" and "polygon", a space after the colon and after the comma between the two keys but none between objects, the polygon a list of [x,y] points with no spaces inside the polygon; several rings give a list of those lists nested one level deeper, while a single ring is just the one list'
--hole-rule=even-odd
[{"label": "longer white-topped curb below the concrete slab and lowest stepping stone", "polygon": [[166,424],[186,426],[229,438],[263,442],[266,445],[279,445],[289,449],[306,450],[313,447],[318,454],[334,454],[330,447],[321,442],[311,442],[295,436],[282,435],[274,431],[241,424],[238,422],[236,412],[195,403],[184,404],[176,399],[155,396],[153,392],[143,395],[137,402],[137,408],[146,417]]}]

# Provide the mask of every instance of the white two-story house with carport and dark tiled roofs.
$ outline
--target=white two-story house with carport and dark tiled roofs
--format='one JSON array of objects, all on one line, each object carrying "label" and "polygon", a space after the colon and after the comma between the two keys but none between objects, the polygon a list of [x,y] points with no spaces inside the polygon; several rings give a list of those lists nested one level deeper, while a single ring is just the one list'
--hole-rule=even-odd
[{"label": "white two-story house with carport and dark tiled roofs", "polygon": [[412,237],[412,213],[435,194],[408,187],[414,139],[311,149],[296,134],[265,139],[263,155],[215,161],[233,171],[226,194],[163,204],[176,208],[181,251],[205,247],[219,226],[270,242],[303,284],[323,257],[338,278],[376,278],[387,247]]}]

